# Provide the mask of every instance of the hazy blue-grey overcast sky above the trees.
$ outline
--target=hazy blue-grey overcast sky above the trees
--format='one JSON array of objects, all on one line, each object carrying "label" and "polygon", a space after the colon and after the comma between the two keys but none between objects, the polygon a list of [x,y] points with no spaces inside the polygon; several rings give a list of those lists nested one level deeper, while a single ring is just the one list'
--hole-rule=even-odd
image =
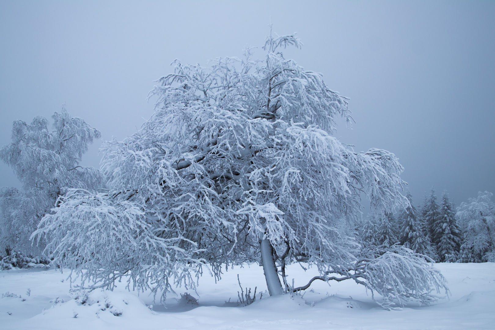
[{"label": "hazy blue-grey overcast sky above the trees", "polygon": [[[394,152],[416,203],[432,186],[457,204],[495,192],[495,1],[1,1],[0,145],[64,102],[122,140],[175,58],[241,57],[270,19],[304,43],[286,57],[350,97],[356,123],[337,136]],[[20,186],[3,163],[1,186]]]}]

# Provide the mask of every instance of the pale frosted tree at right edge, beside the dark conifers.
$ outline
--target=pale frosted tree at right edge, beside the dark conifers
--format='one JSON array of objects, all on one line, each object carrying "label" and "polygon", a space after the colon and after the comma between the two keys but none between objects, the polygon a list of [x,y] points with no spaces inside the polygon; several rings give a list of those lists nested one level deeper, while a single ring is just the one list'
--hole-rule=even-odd
[{"label": "pale frosted tree at right edge, beside the dark conifers", "polygon": [[462,255],[466,262],[495,262],[495,203],[491,192],[480,191],[477,198],[461,203],[456,216],[464,232]]}]

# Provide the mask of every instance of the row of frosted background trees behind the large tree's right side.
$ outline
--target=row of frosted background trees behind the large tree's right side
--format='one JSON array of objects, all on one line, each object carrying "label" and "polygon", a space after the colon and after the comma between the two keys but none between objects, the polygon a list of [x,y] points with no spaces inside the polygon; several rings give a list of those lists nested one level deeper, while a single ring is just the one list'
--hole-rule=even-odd
[{"label": "row of frosted background trees behind the large tree's right side", "polygon": [[479,192],[455,208],[444,191],[438,201],[435,190],[425,195],[423,204],[410,205],[397,213],[370,214],[361,229],[361,243],[368,249],[386,250],[402,245],[435,262],[494,262],[493,194]]}]

